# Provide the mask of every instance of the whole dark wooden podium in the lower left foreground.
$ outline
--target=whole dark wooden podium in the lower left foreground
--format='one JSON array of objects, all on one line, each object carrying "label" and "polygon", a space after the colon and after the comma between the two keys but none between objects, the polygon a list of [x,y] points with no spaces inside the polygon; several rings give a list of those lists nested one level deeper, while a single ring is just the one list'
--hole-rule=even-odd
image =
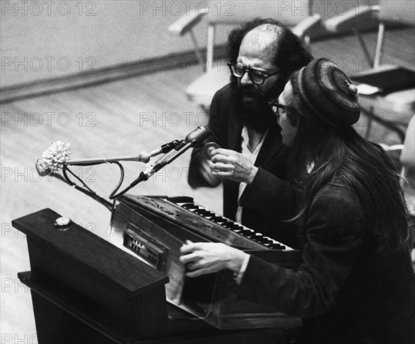
[{"label": "whole dark wooden podium in the lower left foreground", "polygon": [[220,330],[167,304],[164,273],[50,209],[15,219],[26,234],[39,344],[290,343],[284,329]]}]

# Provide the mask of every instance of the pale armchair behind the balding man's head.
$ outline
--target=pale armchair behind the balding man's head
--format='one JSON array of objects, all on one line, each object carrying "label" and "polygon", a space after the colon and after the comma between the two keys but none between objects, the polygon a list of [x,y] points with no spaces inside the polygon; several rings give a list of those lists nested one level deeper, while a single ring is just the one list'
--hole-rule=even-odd
[{"label": "pale armchair behind the balding man's head", "polygon": [[[223,8],[229,2],[219,1],[219,3],[223,3]],[[306,0],[297,0],[290,1],[288,4],[293,6],[293,8],[306,9],[306,3],[308,3]],[[273,17],[287,26],[293,26],[295,33],[307,39],[308,42],[309,38],[306,37],[309,37],[309,33],[315,32],[317,27],[321,26],[320,16],[308,17],[305,11],[293,16],[292,10],[284,10],[282,8],[282,1],[235,1],[232,15],[225,15],[225,12],[219,15],[217,11],[209,11],[207,15],[204,15],[203,11],[197,9],[190,11],[188,15],[181,17],[169,27],[170,33],[174,35],[183,36],[188,33],[194,44],[196,59],[199,61],[199,64],[205,62],[205,72],[187,87],[186,94],[190,100],[196,102],[207,114],[209,113],[210,102],[212,102],[214,93],[225,86],[225,84],[228,84],[230,80],[230,72],[226,64],[214,64],[214,56],[216,55],[214,54],[214,44],[217,30],[219,27],[224,26],[228,26],[229,29],[230,26],[237,26],[255,17]],[[306,21],[300,25],[299,23],[303,19]],[[199,47],[194,34],[194,28],[201,20],[208,21],[206,57],[203,57],[203,51]],[[296,27],[295,25],[297,24],[298,26]]]}]

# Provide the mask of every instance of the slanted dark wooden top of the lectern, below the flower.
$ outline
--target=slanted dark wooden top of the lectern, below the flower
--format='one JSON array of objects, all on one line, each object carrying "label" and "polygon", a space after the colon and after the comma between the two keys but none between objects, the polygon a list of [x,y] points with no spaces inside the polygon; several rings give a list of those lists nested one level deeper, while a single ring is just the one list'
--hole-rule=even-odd
[{"label": "slanted dark wooden top of the lectern, below the flower", "polygon": [[[164,273],[149,269],[144,262],[75,223],[64,229],[57,228],[54,223],[59,217],[57,212],[46,208],[13,220],[12,226],[26,234],[28,239],[32,237],[49,244],[52,250],[70,254],[72,260],[88,266],[100,277],[132,295],[145,292],[155,284],[163,286],[169,282]],[[33,264],[32,260],[30,264]]]}]

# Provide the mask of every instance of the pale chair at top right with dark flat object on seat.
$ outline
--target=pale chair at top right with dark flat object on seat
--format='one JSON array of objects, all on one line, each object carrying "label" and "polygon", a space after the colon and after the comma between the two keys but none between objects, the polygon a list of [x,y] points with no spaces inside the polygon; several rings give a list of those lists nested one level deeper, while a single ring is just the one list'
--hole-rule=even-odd
[{"label": "pale chair at top right with dark flat object on seat", "polygon": [[[360,31],[374,21],[378,21],[378,37],[372,58]],[[366,6],[359,11],[353,9],[345,15],[327,19],[323,24],[331,33],[353,32],[371,66],[370,71],[351,75],[351,79],[358,84],[360,106],[369,117],[366,137],[371,134],[371,120],[376,120],[396,132],[402,142],[405,137],[405,129],[402,128],[407,126],[415,111],[415,69],[382,65],[381,60],[385,28],[415,25],[414,1],[380,0],[378,6]]]}]

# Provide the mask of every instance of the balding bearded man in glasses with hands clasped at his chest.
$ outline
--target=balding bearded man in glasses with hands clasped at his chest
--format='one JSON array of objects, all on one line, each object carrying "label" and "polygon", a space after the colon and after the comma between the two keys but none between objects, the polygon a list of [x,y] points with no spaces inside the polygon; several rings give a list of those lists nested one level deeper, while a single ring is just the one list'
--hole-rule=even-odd
[{"label": "balding bearded man in glasses with hands clasped at his chest", "polygon": [[[216,92],[209,128],[219,148],[192,153],[189,183],[223,181],[223,215],[259,233],[297,247],[287,224],[295,210],[294,190],[284,181],[286,147],[270,107],[287,78],[312,60],[303,42],[274,19],[254,19],[228,37],[230,84]],[[210,146],[212,147],[212,145]]]}]

